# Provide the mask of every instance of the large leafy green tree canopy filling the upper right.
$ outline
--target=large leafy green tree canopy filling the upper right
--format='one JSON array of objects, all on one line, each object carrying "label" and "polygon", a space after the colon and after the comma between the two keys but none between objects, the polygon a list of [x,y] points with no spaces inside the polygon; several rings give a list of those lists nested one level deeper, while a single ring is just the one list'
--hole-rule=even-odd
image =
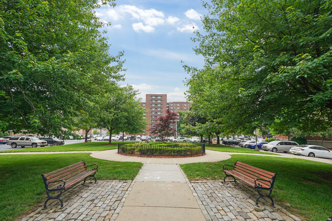
[{"label": "large leafy green tree canopy filling the upper right", "polygon": [[205,67],[185,66],[188,99],[226,131],[274,124],[305,131],[332,127],[332,2],[203,3],[194,38]]}]

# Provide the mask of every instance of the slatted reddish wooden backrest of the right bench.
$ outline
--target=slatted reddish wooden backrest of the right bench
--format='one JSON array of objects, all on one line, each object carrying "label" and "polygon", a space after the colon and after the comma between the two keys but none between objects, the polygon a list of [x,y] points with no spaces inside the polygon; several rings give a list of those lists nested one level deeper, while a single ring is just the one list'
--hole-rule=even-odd
[{"label": "slatted reddish wooden backrest of the right bench", "polygon": [[236,170],[239,173],[244,174],[252,179],[263,179],[263,180],[272,181],[272,183],[269,183],[266,181],[259,181],[259,183],[266,184],[267,186],[273,186],[274,179],[276,177],[276,174],[271,173],[270,171],[254,167],[254,166],[242,163],[240,161],[235,162],[234,170]]}]

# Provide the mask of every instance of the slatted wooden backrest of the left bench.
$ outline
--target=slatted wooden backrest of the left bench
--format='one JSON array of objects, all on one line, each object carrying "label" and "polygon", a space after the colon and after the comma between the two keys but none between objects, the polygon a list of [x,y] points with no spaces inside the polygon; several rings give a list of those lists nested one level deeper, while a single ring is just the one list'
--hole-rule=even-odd
[{"label": "slatted wooden backrest of the left bench", "polygon": [[52,181],[57,180],[66,180],[70,177],[74,177],[82,171],[86,170],[85,162],[82,160],[81,162],[63,167],[61,169],[54,170],[48,174],[41,175],[45,186],[51,188],[54,185],[59,185],[59,183],[53,183],[50,186],[48,185]]}]

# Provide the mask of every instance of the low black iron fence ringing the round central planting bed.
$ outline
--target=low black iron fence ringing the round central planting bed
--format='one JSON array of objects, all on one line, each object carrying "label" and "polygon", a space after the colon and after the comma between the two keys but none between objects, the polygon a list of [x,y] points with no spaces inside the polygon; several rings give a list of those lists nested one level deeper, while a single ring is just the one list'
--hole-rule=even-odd
[{"label": "low black iron fence ringing the round central planting bed", "polygon": [[118,143],[117,153],[136,157],[195,157],[205,154],[205,143],[173,145]]}]

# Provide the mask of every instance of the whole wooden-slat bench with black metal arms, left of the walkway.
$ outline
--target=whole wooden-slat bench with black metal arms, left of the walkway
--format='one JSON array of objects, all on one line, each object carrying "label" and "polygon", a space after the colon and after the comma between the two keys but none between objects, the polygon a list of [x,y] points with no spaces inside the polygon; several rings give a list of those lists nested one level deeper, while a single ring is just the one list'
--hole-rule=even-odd
[{"label": "whole wooden-slat bench with black metal arms, left of the walkway", "polygon": [[[92,170],[87,170],[88,166],[97,166]],[[70,186],[73,186],[76,183],[79,183],[84,179],[84,183],[86,178],[93,177],[94,183],[97,182],[96,177],[94,175],[98,171],[98,165],[92,164],[86,166],[85,162],[82,160],[81,162],[75,163],[73,165],[69,165],[63,167],[61,169],[54,170],[48,174],[42,174],[41,177],[44,181],[44,186],[46,190],[46,194],[48,195],[48,199],[44,203],[44,209],[46,209],[46,203],[49,200],[58,199],[61,202],[61,209],[63,208],[63,202],[60,198],[62,192],[68,189]],[[52,192],[60,192],[58,195],[52,196]]]}]

